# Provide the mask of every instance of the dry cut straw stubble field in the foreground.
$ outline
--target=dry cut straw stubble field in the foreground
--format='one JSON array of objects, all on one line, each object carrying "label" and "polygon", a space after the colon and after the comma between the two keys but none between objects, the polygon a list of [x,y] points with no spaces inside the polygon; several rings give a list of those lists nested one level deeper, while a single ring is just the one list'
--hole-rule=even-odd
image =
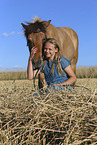
[{"label": "dry cut straw stubble field in the foreground", "polygon": [[97,78],[42,95],[32,81],[0,81],[0,145],[96,144]]}]

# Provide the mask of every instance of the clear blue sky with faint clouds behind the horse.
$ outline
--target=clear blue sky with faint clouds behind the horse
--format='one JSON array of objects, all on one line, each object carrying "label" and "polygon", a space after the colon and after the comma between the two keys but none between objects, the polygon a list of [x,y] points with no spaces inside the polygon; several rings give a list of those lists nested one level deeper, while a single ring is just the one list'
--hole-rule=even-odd
[{"label": "clear blue sky with faint clouds behind the horse", "polygon": [[74,29],[79,38],[77,67],[97,66],[97,0],[1,0],[0,70],[26,70],[29,51],[21,23],[35,16]]}]

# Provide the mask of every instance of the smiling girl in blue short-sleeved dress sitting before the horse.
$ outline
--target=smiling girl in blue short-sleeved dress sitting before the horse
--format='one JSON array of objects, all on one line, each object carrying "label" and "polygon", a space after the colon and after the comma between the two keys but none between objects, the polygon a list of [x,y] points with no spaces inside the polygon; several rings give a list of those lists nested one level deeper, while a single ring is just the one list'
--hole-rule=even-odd
[{"label": "smiling girl in blue short-sleeved dress sitting before the horse", "polygon": [[[35,47],[31,50],[28,63],[28,79],[33,79],[34,77],[32,58],[36,51],[37,48]],[[44,41],[42,54],[44,65],[40,71],[44,73],[48,88],[63,89],[64,86],[73,88],[72,85],[76,82],[76,76],[70,66],[71,61],[61,56],[59,44],[54,38],[48,38]],[[36,71],[34,71],[34,75]]]}]

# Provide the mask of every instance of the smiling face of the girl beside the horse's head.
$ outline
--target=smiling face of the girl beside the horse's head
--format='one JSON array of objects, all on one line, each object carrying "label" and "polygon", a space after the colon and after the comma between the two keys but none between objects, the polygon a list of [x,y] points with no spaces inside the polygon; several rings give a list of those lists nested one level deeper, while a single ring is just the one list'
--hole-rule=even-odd
[{"label": "smiling face of the girl beside the horse's head", "polygon": [[55,53],[58,52],[58,48],[55,48],[55,45],[47,42],[44,46],[44,55],[49,61],[53,61]]}]

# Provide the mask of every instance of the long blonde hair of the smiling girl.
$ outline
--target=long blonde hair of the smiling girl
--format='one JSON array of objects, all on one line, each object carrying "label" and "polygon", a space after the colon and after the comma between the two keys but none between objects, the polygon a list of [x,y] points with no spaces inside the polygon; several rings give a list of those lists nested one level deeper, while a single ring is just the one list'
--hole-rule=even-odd
[{"label": "long blonde hair of the smiling girl", "polygon": [[58,48],[58,52],[56,52],[56,54],[54,56],[54,60],[53,60],[53,64],[52,64],[50,73],[53,75],[54,67],[55,67],[55,61],[57,61],[56,69],[57,69],[58,74],[65,75],[63,70],[62,70],[61,63],[60,63],[60,60],[61,60],[61,57],[62,57],[62,54],[61,54],[61,51],[60,51],[60,46],[59,46],[58,41],[54,38],[47,38],[46,40],[43,40],[42,56],[43,56],[43,59],[44,59],[44,63],[46,64],[46,61],[47,61],[46,57],[44,55],[44,46],[45,46],[46,43],[53,44],[55,46],[55,49]]}]

